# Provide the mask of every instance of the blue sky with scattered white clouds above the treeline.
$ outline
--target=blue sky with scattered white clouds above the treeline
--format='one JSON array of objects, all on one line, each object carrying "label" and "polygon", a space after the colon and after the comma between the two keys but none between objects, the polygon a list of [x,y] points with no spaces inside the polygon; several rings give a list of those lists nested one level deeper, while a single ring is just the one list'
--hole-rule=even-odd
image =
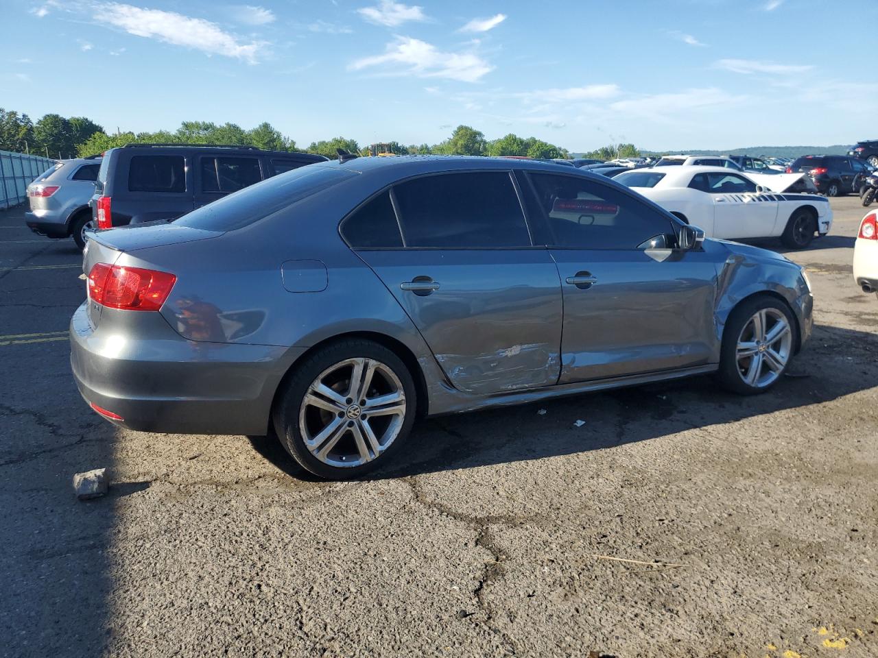
[{"label": "blue sky with scattered white clouds above the treeline", "polygon": [[878,137],[874,0],[0,0],[0,106],[108,132],[269,121],[307,145],[453,126],[571,151]]}]

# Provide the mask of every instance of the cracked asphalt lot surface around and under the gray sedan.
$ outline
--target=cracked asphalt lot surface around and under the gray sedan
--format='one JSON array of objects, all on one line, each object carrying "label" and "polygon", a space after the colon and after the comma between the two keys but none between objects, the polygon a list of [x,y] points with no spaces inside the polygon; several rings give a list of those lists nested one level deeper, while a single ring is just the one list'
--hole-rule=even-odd
[{"label": "cracked asphalt lot surface around and under the gray sedan", "polygon": [[436,418],[351,483],[97,417],[64,335],[80,256],[0,211],[0,656],[878,654],[878,299],[851,278],[859,200],[832,205],[788,254],[817,326],[772,392]]}]

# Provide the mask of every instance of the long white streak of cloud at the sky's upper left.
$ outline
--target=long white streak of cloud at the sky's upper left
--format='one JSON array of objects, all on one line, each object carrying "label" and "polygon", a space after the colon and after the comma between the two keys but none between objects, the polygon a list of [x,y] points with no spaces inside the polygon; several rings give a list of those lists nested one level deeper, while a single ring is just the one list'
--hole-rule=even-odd
[{"label": "long white streak of cloud at the sky's upper left", "polygon": [[220,54],[255,64],[266,44],[260,41],[241,43],[223,32],[216,23],[191,18],[175,11],[140,9],[131,4],[98,3],[93,5],[95,18],[102,24],[115,25],[129,34],[158,39],[175,46],[195,48],[206,54]]}]

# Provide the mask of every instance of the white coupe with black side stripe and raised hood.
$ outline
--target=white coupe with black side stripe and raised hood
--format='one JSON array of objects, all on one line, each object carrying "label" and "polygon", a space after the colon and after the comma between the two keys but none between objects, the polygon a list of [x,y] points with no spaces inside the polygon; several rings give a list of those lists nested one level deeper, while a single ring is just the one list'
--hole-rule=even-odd
[{"label": "white coupe with black side stripe and raised hood", "polygon": [[[779,179],[778,191],[763,187],[774,179]],[[654,167],[626,171],[614,180],[698,226],[710,238],[780,238],[786,247],[802,249],[832,225],[826,197],[781,193],[781,186],[785,189],[792,182],[789,176],[759,176],[760,185],[746,174],[722,167]]]}]

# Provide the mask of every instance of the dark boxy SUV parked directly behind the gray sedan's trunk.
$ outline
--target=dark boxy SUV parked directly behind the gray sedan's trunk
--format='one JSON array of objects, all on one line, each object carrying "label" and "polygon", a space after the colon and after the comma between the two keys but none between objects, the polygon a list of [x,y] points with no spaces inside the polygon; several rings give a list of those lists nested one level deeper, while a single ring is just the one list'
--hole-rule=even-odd
[{"label": "dark boxy SUV parked directly behind the gray sedan's trunk", "polygon": [[255,147],[129,144],[104,154],[90,206],[97,228],[171,221],[322,155]]}]

